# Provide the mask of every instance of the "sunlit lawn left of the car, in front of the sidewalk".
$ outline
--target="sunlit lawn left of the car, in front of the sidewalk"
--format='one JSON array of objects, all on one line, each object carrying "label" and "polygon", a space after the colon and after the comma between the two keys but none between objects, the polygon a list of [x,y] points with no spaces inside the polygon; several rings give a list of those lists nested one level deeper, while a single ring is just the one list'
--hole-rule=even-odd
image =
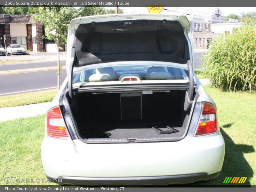
[{"label": "sunlit lawn left of the car, in front of the sidewalk", "polygon": [[[41,163],[45,115],[0,123],[0,185],[5,177],[46,179]],[[26,183],[9,183],[9,185]],[[33,183],[46,185],[47,183]],[[49,183],[48,183],[49,184]],[[31,184],[32,185],[32,184]]]}]

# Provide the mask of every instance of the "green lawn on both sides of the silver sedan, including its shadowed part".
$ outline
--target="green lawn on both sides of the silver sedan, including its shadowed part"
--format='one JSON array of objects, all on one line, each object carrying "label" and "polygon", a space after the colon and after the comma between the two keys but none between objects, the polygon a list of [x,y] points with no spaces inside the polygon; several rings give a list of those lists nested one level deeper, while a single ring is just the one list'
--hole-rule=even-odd
[{"label": "green lawn on both sides of the silver sedan, including its shadowed part", "polygon": [[[205,86],[205,90],[217,105],[226,154],[217,179],[193,185],[231,186],[222,182],[225,177],[236,176],[249,178],[242,185],[256,185],[256,94],[222,92],[211,86]],[[40,156],[44,117],[41,115],[0,123],[0,185],[6,184],[5,177],[45,178]]]}]

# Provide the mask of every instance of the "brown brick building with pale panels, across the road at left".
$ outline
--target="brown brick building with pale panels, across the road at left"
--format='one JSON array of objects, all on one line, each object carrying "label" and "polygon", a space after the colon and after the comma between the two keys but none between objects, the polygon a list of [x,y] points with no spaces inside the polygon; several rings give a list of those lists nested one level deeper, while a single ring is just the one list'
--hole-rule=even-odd
[{"label": "brown brick building with pale panels, across the road at left", "polygon": [[[33,52],[56,52],[53,41],[43,39],[44,27],[32,20],[30,15],[0,14],[0,37],[6,37],[6,46],[20,44],[24,49]],[[0,39],[4,46],[4,38]],[[64,46],[63,46],[64,48]]]}]

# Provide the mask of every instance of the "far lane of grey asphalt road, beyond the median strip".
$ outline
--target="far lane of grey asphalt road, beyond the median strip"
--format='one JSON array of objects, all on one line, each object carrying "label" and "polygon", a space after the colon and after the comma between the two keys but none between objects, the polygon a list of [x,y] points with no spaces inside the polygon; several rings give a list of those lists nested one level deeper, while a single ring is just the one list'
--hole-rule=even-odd
[{"label": "far lane of grey asphalt road, beyond the median strip", "polygon": [[[64,65],[66,61],[60,61],[60,65]],[[28,63],[10,63],[0,65],[0,71],[14,70],[14,69],[28,69],[38,67],[52,67],[57,66],[56,61],[37,61]]]}]

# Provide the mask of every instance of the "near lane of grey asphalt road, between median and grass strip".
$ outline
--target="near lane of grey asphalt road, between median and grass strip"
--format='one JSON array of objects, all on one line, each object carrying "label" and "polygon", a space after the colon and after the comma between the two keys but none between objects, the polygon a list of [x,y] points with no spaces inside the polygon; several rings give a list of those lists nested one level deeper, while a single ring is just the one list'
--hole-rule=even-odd
[{"label": "near lane of grey asphalt road, between median and grass strip", "polygon": [[[67,76],[66,69],[60,72],[60,82]],[[57,88],[55,70],[0,75],[0,95],[30,92],[47,88]]]}]

